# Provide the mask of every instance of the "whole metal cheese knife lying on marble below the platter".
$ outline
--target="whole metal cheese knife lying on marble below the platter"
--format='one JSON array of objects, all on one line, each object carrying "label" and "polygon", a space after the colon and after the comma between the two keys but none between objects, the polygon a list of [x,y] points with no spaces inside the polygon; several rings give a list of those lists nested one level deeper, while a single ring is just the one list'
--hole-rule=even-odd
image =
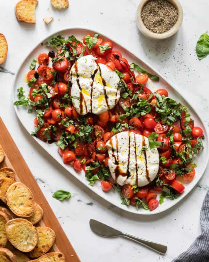
[{"label": "whole metal cheese knife lying on marble below the platter", "polygon": [[111,238],[122,236],[128,239],[131,239],[135,241],[136,243],[139,243],[161,254],[165,254],[165,252],[167,251],[167,246],[126,234],[122,231],[116,230],[115,228],[109,227],[97,220],[90,219],[89,224],[90,224],[92,231],[94,231],[97,235],[101,235],[104,237],[111,237]]}]

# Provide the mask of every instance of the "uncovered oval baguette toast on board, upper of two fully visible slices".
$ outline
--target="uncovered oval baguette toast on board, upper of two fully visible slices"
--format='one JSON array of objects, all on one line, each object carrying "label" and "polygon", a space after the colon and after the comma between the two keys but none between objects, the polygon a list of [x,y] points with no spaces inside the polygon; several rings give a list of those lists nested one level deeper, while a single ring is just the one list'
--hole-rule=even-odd
[{"label": "uncovered oval baguette toast on board, upper of two fully visible slices", "polygon": [[13,183],[6,192],[6,203],[17,216],[29,217],[35,213],[35,200],[30,189],[21,182]]}]

